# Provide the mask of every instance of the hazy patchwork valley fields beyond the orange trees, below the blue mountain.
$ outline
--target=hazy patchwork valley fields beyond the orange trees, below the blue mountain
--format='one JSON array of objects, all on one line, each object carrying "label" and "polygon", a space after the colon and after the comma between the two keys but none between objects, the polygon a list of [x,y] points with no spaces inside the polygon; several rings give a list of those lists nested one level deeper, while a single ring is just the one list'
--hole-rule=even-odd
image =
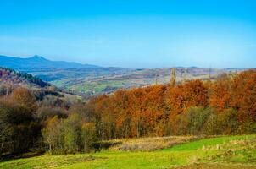
[{"label": "hazy patchwork valley fields beyond the orange trees, below the blue mountain", "polygon": [[[120,88],[131,88],[170,81],[171,68],[69,68],[51,71],[31,71],[31,74],[65,90],[86,95],[111,93]],[[176,80],[211,79],[223,73],[235,73],[239,69],[177,68]],[[210,75],[209,75],[210,74]]]}]

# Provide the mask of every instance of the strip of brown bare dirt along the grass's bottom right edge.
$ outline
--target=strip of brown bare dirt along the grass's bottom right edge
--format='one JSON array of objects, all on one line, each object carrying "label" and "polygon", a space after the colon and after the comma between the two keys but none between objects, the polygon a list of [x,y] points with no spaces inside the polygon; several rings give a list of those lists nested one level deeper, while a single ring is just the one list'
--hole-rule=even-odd
[{"label": "strip of brown bare dirt along the grass's bottom right edge", "polygon": [[174,169],[256,169],[256,166],[227,165],[227,164],[199,164],[191,166],[180,166]]}]

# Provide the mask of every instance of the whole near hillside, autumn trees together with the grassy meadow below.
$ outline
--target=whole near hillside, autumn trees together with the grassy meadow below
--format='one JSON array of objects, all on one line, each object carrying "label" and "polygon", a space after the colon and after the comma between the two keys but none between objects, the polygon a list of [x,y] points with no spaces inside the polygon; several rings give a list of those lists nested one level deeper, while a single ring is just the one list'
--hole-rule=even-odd
[{"label": "whole near hillside, autumn trees together with the grassy meadow below", "polygon": [[255,77],[252,69],[76,102],[16,88],[0,95],[0,167],[254,168]]}]

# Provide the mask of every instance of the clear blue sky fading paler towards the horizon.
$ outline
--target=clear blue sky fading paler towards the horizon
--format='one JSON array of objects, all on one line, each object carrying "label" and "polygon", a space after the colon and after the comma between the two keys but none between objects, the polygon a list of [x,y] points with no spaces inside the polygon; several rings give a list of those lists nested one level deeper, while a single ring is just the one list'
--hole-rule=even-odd
[{"label": "clear blue sky fading paler towards the horizon", "polygon": [[255,68],[256,1],[0,0],[0,54],[125,68]]}]

